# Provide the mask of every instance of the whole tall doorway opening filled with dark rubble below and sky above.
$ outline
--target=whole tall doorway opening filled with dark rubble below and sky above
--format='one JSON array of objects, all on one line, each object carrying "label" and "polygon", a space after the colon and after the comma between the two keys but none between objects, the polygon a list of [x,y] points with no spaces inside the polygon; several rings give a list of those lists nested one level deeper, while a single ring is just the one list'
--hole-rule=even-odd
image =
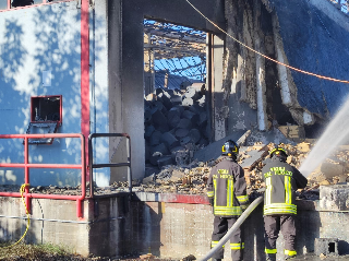
[{"label": "whole tall doorway opening filled with dark rubble below and sky above", "polygon": [[145,166],[188,164],[207,145],[205,99],[207,34],[144,20]]}]

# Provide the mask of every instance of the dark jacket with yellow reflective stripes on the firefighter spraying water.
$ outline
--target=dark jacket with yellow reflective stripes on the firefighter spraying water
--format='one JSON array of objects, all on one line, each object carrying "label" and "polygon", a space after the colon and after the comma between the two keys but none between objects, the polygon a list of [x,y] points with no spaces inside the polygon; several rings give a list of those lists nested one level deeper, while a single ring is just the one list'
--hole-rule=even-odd
[{"label": "dark jacket with yellow reflective stripes on the firefighter spraying water", "polygon": [[264,215],[296,215],[296,190],[305,188],[308,179],[296,167],[277,156],[263,167],[262,175],[266,187]]}]

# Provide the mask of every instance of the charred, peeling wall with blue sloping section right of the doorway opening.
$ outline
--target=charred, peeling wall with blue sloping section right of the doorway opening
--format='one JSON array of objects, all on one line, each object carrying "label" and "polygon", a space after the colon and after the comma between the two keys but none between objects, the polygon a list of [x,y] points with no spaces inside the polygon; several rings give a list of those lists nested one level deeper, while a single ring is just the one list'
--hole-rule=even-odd
[{"label": "charred, peeling wall with blue sloping section right of the doorway opening", "polygon": [[222,119],[226,133],[328,121],[347,96],[347,84],[290,70],[257,52],[304,71],[348,79],[346,15],[326,0],[226,0],[225,12],[229,36],[221,104],[227,108],[221,111],[229,112],[216,120]]}]

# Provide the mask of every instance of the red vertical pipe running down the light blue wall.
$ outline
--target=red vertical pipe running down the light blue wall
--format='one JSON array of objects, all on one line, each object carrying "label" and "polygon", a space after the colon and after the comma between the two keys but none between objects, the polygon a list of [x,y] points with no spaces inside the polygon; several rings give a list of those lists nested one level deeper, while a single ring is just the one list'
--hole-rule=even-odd
[{"label": "red vertical pipe running down the light blue wall", "polygon": [[[85,158],[88,163],[89,135],[89,38],[88,0],[81,0],[81,132],[85,137]],[[87,165],[86,165],[87,167]],[[88,171],[86,169],[87,180]]]}]

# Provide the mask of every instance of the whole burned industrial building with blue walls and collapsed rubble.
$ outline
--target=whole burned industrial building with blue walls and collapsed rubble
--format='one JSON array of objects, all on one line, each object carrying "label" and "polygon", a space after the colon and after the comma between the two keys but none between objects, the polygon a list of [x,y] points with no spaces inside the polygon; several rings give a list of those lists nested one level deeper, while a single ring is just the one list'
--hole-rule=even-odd
[{"label": "whole burned industrial building with blue walls and collapsed rubble", "polygon": [[[205,182],[231,139],[252,202],[275,146],[306,174],[299,254],[349,254],[347,3],[0,3],[0,239],[21,238],[27,210],[25,242],[202,258]],[[265,258],[261,218],[246,260]]]}]

